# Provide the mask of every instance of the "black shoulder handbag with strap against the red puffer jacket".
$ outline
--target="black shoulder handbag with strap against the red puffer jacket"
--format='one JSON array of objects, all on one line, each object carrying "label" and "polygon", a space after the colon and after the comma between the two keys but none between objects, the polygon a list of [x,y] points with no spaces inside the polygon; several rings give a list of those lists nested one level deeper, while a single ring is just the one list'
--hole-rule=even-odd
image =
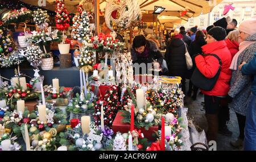
[{"label": "black shoulder handbag with strap against the red puffer jacket", "polygon": [[207,54],[207,55],[202,54],[202,55],[203,56],[214,56],[218,59],[218,62],[220,64],[220,66],[218,68],[218,72],[213,78],[205,77],[197,67],[193,71],[193,74],[191,77],[191,82],[193,83],[193,85],[195,85],[196,87],[203,89],[205,91],[209,91],[209,90],[213,89],[214,85],[216,84],[216,82],[218,80],[218,77],[220,76],[222,63],[221,63],[220,57],[218,57],[215,54]]}]

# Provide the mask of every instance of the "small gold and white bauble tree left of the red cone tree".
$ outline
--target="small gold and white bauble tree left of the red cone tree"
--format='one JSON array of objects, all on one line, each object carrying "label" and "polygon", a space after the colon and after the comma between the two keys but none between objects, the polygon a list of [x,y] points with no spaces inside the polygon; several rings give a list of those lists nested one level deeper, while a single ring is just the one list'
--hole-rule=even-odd
[{"label": "small gold and white bauble tree left of the red cone tree", "polygon": [[34,11],[34,14],[32,15],[34,17],[35,24],[41,29],[44,30],[48,26],[49,22],[49,15],[47,14],[47,11],[43,11],[42,9],[38,9]]}]

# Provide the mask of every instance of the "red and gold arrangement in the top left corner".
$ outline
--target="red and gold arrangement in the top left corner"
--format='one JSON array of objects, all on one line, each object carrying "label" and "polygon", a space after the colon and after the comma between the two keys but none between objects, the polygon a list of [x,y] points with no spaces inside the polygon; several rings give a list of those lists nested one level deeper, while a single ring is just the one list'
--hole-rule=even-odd
[{"label": "red and gold arrangement in the top left corner", "polygon": [[32,18],[32,12],[26,7],[22,7],[20,10],[11,10],[10,13],[3,18],[5,24],[20,23],[30,20]]}]

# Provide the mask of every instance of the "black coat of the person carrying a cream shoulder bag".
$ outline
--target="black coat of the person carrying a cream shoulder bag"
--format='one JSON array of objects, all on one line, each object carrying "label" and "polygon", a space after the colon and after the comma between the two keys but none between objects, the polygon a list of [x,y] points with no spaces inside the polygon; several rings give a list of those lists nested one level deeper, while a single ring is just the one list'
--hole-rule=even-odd
[{"label": "black coat of the person carrying a cream shoulder bag", "polygon": [[165,57],[169,69],[169,76],[180,76],[184,78],[187,72],[184,41],[178,38],[172,39],[166,49]]}]

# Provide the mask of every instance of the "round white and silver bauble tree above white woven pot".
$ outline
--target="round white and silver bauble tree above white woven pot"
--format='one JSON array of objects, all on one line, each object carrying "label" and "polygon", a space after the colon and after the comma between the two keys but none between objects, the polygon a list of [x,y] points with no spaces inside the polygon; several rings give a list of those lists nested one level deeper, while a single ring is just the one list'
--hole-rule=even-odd
[{"label": "round white and silver bauble tree above white woven pot", "polygon": [[39,67],[41,64],[41,59],[43,56],[43,51],[39,48],[39,46],[32,45],[28,46],[25,51],[25,57],[30,62],[30,65],[34,68]]}]

